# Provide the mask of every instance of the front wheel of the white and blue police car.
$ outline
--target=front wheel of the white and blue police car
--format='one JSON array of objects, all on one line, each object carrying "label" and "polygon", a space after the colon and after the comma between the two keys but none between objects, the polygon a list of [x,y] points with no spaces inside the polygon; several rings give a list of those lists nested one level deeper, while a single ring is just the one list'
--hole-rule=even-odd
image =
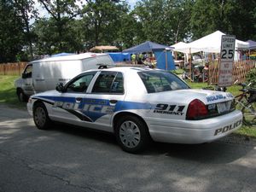
[{"label": "front wheel of the white and blue police car", "polygon": [[51,120],[49,119],[48,112],[44,106],[44,103],[38,102],[35,104],[33,108],[33,119],[39,130],[49,129]]}]

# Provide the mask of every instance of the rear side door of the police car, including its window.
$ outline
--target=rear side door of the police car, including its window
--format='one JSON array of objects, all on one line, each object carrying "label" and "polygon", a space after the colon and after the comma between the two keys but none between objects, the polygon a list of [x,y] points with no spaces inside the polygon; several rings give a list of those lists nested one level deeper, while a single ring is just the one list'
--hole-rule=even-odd
[{"label": "rear side door of the police car, including its window", "polygon": [[84,106],[86,113],[94,122],[93,128],[113,131],[111,119],[125,99],[124,74],[114,71],[102,71],[90,87]]}]

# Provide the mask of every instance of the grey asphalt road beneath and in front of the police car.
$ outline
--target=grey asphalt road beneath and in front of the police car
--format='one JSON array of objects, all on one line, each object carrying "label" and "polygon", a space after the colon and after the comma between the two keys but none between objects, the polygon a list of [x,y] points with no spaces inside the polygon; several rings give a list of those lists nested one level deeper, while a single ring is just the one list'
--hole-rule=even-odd
[{"label": "grey asphalt road beneath and in front of the police car", "polygon": [[153,143],[123,152],[112,135],[36,129],[26,110],[0,106],[0,192],[256,191],[256,141]]}]

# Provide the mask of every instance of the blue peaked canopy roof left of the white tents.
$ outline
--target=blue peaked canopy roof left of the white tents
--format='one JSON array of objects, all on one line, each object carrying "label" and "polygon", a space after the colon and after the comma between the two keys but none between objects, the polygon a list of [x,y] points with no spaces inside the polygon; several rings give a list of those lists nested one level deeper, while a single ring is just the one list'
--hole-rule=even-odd
[{"label": "blue peaked canopy roof left of the white tents", "polygon": [[151,41],[146,41],[143,44],[138,44],[134,47],[123,50],[123,53],[139,54],[143,52],[153,52],[154,50],[158,50],[158,49],[172,49],[172,48],[163,44],[156,44]]}]

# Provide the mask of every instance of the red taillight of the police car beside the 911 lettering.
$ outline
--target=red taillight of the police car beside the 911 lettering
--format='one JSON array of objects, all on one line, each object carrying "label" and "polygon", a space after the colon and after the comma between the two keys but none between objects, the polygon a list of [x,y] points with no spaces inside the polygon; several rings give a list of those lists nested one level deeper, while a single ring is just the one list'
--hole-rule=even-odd
[{"label": "red taillight of the police car beside the 911 lettering", "polygon": [[187,119],[203,119],[207,116],[207,114],[207,106],[200,100],[195,99],[189,103],[189,108],[187,110]]}]

